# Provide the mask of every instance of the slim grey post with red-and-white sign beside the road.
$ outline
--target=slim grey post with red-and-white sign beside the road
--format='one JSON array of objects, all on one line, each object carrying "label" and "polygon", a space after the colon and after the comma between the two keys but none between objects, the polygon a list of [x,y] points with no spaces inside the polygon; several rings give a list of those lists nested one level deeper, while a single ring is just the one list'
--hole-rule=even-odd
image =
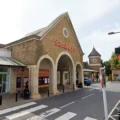
[{"label": "slim grey post with red-and-white sign beside the road", "polygon": [[105,81],[105,68],[100,68],[100,83],[103,91],[103,103],[104,103],[104,112],[105,120],[108,120],[108,108],[107,108],[107,98],[106,98],[106,81]]}]

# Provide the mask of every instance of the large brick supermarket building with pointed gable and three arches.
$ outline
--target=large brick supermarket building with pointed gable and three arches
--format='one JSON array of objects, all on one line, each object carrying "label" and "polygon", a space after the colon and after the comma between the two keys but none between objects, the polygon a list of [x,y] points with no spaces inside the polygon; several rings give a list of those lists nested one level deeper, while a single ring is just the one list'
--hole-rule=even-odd
[{"label": "large brick supermarket building with pointed gable and three arches", "polygon": [[[68,13],[4,48],[26,66],[24,82],[29,81],[32,98],[40,98],[38,89],[42,85],[48,85],[50,92],[57,94],[60,84],[72,87],[76,79],[83,83],[83,51]],[[10,82],[17,79],[17,86],[21,87],[21,70],[11,71],[14,77]],[[10,91],[16,91],[15,84],[10,84]]]}]

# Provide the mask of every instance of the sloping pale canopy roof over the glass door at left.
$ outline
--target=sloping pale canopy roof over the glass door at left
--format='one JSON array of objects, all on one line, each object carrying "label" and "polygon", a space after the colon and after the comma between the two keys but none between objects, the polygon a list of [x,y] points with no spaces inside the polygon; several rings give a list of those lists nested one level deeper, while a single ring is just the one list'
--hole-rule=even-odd
[{"label": "sloping pale canopy roof over the glass door at left", "polygon": [[0,66],[2,67],[25,67],[21,62],[7,57],[0,57]]}]

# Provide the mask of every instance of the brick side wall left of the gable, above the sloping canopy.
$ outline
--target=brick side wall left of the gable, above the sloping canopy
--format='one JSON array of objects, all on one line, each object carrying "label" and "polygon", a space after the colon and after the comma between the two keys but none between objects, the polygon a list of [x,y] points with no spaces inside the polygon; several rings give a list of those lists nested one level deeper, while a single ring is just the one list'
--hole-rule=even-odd
[{"label": "brick side wall left of the gable, above the sloping canopy", "polygon": [[12,58],[25,65],[34,65],[37,62],[36,53],[39,50],[38,42],[39,41],[33,39],[31,41],[16,44],[11,48],[7,47],[7,49],[11,49]]}]

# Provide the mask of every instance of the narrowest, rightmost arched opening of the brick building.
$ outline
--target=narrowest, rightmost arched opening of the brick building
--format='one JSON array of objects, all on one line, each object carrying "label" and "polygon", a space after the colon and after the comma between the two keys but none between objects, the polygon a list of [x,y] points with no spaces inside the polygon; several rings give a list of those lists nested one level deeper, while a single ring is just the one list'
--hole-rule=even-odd
[{"label": "narrowest, rightmost arched opening of the brick building", "polygon": [[79,62],[77,62],[75,67],[76,67],[76,85],[82,83],[82,86],[84,86],[82,66]]}]

